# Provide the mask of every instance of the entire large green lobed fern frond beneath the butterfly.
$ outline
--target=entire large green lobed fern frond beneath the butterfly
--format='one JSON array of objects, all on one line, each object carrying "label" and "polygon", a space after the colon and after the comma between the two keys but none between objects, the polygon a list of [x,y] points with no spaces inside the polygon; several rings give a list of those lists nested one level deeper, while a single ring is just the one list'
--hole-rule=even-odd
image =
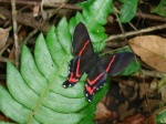
[{"label": "entire large green lobed fern frond beneath the butterfly", "polygon": [[76,13],[68,23],[63,18],[55,29],[51,27],[44,39],[41,33],[35,42],[34,55],[23,45],[20,72],[7,63],[8,90],[0,86],[0,111],[17,123],[31,124],[91,124],[97,102],[108,89],[104,85],[89,103],[84,95],[84,74],[69,89],[62,83],[68,78],[68,66],[73,58],[71,41],[79,21],[86,24],[93,45],[101,51],[106,34],[103,24],[111,10],[112,0],[84,2],[83,14]]}]

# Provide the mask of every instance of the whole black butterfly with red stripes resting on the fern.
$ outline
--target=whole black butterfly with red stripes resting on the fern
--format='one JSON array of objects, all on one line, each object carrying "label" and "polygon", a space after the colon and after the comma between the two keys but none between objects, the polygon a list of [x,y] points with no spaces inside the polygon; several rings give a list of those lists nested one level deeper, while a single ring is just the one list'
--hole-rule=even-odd
[{"label": "whole black butterfly with red stripes resting on the fern", "polygon": [[74,86],[84,73],[87,74],[84,93],[89,102],[94,93],[106,82],[107,74],[117,75],[135,59],[132,52],[104,54],[98,56],[94,52],[86,27],[79,22],[74,29],[72,41],[74,58],[70,61],[69,76],[63,87]]}]

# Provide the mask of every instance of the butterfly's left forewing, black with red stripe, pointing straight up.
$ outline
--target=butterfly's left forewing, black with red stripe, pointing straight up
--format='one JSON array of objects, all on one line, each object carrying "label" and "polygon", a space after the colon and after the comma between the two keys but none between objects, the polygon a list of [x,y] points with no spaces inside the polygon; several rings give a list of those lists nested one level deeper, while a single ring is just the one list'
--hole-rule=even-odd
[{"label": "butterfly's left forewing, black with red stripe, pointing straight up", "polygon": [[91,56],[94,51],[89,32],[82,22],[75,27],[72,42],[73,54],[79,56]]}]

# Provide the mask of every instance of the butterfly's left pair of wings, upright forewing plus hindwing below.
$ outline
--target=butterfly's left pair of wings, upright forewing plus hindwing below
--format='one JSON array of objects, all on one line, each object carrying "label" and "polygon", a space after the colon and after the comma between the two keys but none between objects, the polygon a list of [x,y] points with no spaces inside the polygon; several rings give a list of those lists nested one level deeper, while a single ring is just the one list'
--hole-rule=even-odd
[{"label": "butterfly's left pair of wings, upright forewing plus hindwing below", "polygon": [[89,32],[82,22],[79,22],[74,29],[72,52],[75,56],[70,62],[68,80],[62,84],[64,87],[77,83],[89,68],[90,58],[94,54]]}]

